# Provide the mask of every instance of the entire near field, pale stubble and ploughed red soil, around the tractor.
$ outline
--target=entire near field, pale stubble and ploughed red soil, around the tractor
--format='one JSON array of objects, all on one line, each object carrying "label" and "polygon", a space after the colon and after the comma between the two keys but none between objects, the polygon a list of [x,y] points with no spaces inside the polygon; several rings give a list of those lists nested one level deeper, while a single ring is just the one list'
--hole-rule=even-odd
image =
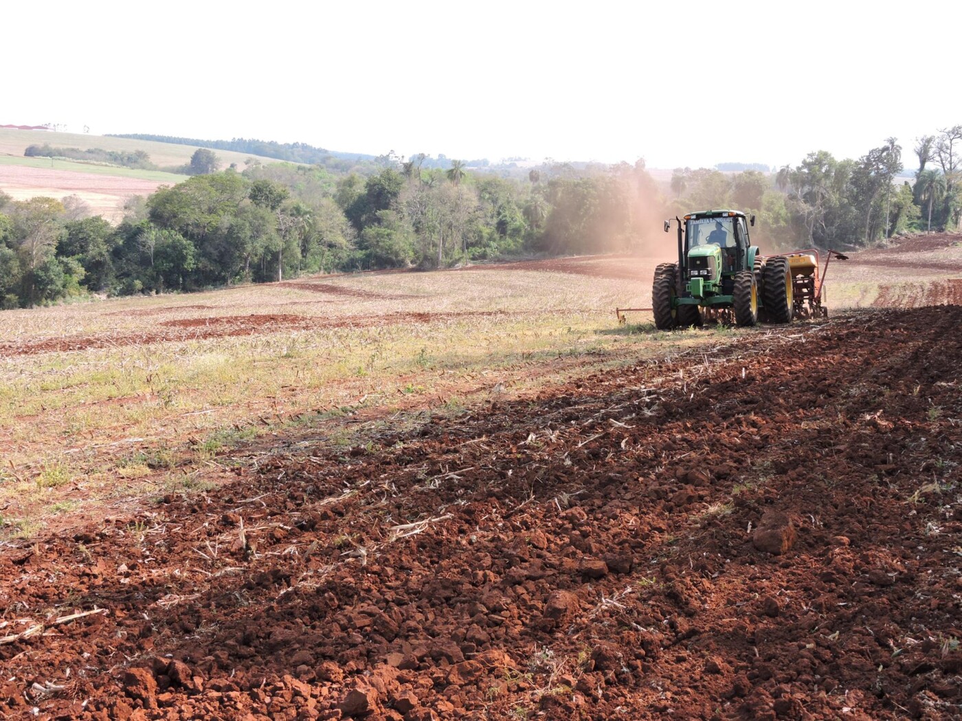
[{"label": "entire near field, pale stubble and ploughed red soil, around the tractor", "polygon": [[958,717],[962,236],[618,325],[661,260],[0,313],[0,715]]}]

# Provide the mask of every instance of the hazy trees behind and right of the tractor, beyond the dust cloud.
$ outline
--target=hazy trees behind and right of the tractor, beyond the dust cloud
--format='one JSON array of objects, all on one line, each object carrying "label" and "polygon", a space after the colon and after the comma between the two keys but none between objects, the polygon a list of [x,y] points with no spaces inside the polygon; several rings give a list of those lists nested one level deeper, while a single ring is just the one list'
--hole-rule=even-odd
[{"label": "hazy trees behind and right of the tractor, beyond the dust cloud", "polygon": [[758,236],[773,247],[850,248],[910,231],[957,228],[962,219],[962,125],[914,145],[914,182],[903,170],[898,138],[886,138],[856,160],[809,153],[773,176],[678,168],[671,177],[674,208],[754,211]]}]

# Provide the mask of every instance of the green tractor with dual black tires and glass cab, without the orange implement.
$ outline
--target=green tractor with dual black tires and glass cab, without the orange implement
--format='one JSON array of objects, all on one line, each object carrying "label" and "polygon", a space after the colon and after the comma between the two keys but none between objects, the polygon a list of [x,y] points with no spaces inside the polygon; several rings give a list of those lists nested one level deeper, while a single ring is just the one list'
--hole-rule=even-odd
[{"label": "green tractor with dual black tires and glass cab, without the orange implement", "polygon": [[[784,256],[764,258],[748,237],[755,216],[740,211],[700,211],[674,218],[678,262],[655,269],[651,307],[659,330],[705,321],[753,326],[789,323],[794,315],[792,268]],[[671,220],[665,221],[665,232]]]}]

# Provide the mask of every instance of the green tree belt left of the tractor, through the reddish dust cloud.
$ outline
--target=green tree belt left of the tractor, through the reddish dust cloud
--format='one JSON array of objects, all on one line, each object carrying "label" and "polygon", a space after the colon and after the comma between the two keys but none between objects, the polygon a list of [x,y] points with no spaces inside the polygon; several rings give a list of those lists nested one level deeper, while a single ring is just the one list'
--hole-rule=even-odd
[{"label": "green tree belt left of the tractor, through the reddish dust cloud", "polygon": [[131,201],[115,227],[76,197],[0,194],[0,305],[626,250],[657,222],[639,210],[655,193],[644,162],[519,182],[416,158],[367,176],[290,163],[196,175]]}]

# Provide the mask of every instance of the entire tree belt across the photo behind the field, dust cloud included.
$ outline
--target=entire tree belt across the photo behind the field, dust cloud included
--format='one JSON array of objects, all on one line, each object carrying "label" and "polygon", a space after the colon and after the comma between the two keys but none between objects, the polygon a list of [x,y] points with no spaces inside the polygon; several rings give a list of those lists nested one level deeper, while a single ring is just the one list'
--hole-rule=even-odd
[{"label": "entire tree belt across the photo behind the field, dust cloud included", "polygon": [[857,160],[819,151],[773,174],[678,168],[664,185],[642,160],[547,162],[523,178],[393,154],[352,172],[291,162],[215,172],[215,154],[201,150],[194,177],[135,198],[116,226],[75,196],[13,201],[0,192],[0,305],[630,251],[664,240],[662,218],[708,208],[756,213],[753,237],[770,251],[958,227],[962,126],[913,150],[914,183],[896,181],[902,150],[888,138]]}]

